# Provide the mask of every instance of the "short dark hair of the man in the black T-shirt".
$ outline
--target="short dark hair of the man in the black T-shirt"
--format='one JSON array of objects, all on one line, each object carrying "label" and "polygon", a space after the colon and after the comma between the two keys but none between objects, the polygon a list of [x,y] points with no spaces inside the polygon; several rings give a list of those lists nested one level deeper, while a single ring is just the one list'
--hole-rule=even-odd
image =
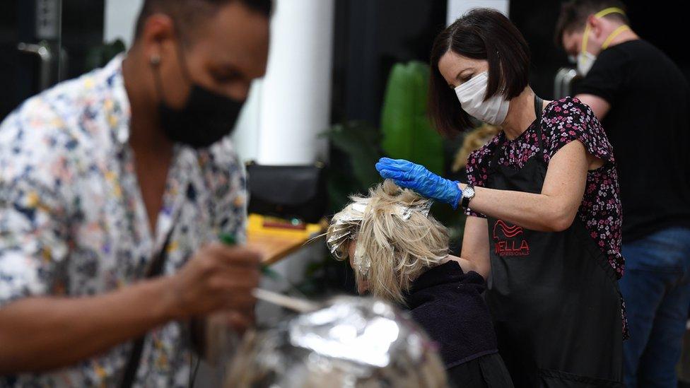
[{"label": "short dark hair of the man in the black T-shirt", "polygon": [[[556,21],[556,33],[554,33],[556,47],[563,47],[563,35],[584,28],[587,17],[612,7],[626,11],[626,6],[619,0],[570,0],[561,4],[561,13]],[[604,18],[619,20],[625,24],[630,23],[628,16],[617,12],[609,13]]]}]

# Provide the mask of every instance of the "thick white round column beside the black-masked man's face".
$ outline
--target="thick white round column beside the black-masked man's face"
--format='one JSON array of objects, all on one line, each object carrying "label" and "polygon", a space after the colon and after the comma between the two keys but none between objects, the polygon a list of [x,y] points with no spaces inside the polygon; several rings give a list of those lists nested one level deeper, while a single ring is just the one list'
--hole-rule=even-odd
[{"label": "thick white round column beside the black-masked man's face", "polygon": [[330,122],[334,0],[279,0],[259,109],[259,164],[326,157],[317,136]]}]

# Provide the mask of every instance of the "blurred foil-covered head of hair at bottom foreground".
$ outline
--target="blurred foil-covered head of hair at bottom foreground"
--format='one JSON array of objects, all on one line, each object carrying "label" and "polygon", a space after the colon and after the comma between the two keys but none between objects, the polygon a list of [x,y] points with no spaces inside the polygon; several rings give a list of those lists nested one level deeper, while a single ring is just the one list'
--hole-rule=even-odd
[{"label": "blurred foil-covered head of hair at bottom foreground", "polygon": [[435,343],[387,302],[337,297],[250,332],[225,387],[448,387]]}]

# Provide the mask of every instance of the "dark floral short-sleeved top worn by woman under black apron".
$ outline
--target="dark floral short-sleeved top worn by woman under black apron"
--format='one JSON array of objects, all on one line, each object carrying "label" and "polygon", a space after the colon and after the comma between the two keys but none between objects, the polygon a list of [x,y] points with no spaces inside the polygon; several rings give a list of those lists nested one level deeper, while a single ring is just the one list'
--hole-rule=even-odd
[{"label": "dark floral short-sleeved top worn by woman under black apron", "polygon": [[[503,131],[489,143],[474,151],[467,160],[467,180],[474,186],[486,186],[487,169],[493,153],[501,152],[498,163],[520,169],[532,156],[541,153],[549,160],[561,147],[573,140],[583,143],[587,152],[601,160],[604,165],[587,172],[585,195],[578,216],[590,232],[590,236],[602,249],[616,273],[621,278],[624,259],[621,254],[621,201],[619,199],[616,160],[609,139],[594,112],[577,98],[563,98],[551,102],[542,112],[542,143],[546,152],[539,148],[537,121],[513,140],[505,137]],[[484,215],[467,211],[469,216]]]}]

